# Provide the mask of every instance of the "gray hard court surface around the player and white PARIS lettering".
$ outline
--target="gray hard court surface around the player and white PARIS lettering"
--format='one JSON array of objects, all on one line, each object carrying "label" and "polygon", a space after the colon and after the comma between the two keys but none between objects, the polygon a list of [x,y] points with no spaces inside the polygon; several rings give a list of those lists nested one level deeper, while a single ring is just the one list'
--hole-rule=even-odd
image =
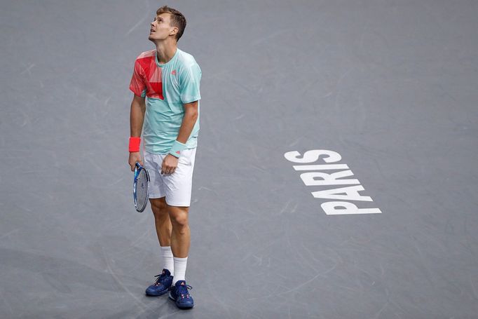
[{"label": "gray hard court surface around the player and white PARIS lettering", "polygon": [[[161,257],[127,163],[163,4],[203,71],[191,311],[144,295]],[[478,318],[477,1],[0,9],[0,318]],[[381,213],[327,215],[312,193],[353,185],[306,186],[284,154],[313,149]]]}]

